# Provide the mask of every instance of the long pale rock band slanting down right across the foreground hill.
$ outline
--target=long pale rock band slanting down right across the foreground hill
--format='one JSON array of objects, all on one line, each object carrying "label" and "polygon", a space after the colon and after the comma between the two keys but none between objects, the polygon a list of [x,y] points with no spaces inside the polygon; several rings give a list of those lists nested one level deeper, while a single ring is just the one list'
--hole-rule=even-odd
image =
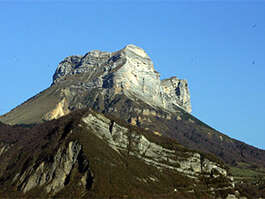
[{"label": "long pale rock band slanting down right across the foreground hill", "polygon": [[92,129],[98,138],[104,140],[117,153],[135,156],[158,169],[175,170],[191,178],[198,178],[202,174],[215,178],[227,176],[223,166],[199,153],[168,149],[100,114],[89,114],[82,120],[87,128]]}]

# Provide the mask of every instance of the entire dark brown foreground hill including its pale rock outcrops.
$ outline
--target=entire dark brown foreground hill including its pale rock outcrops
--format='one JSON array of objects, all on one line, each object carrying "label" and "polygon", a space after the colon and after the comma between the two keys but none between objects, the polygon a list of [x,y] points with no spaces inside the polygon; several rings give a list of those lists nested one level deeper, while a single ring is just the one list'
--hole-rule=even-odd
[{"label": "entire dark brown foreground hill including its pale rock outcrops", "polygon": [[[6,128],[12,136],[6,135]],[[226,198],[218,159],[81,110],[30,128],[0,125],[4,198]]]}]

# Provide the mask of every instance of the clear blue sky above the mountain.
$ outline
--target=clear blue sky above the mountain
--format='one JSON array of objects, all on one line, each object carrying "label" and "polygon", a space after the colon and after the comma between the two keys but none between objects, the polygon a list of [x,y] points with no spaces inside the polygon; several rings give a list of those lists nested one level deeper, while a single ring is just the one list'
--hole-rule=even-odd
[{"label": "clear blue sky above the mountain", "polygon": [[193,115],[265,149],[265,1],[0,0],[0,114],[49,87],[66,56],[127,44],[189,82]]}]

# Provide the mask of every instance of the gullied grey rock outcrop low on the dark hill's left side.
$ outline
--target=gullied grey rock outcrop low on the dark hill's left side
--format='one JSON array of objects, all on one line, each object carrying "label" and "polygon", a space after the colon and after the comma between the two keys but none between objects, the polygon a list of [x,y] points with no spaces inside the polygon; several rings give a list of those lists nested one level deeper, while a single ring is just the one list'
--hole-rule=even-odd
[{"label": "gullied grey rock outcrop low on the dark hill's left side", "polygon": [[13,181],[17,181],[19,190],[24,193],[45,185],[47,193],[55,194],[64,187],[80,151],[81,145],[78,142],[69,142],[66,149],[58,149],[51,162],[35,163],[23,173],[17,174]]}]

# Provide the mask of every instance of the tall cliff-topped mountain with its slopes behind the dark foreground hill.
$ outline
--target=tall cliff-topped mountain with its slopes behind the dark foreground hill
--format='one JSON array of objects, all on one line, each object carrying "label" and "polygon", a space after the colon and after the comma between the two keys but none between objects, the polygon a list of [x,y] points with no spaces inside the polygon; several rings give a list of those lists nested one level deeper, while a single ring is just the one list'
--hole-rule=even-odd
[{"label": "tall cliff-topped mountain with its slopes behind the dark foreground hill", "polygon": [[113,53],[96,50],[67,57],[50,88],[0,120],[39,123],[87,107],[214,154],[233,168],[264,175],[265,151],[229,138],[189,114],[187,81],[176,77],[161,81],[146,52],[134,45]]}]

